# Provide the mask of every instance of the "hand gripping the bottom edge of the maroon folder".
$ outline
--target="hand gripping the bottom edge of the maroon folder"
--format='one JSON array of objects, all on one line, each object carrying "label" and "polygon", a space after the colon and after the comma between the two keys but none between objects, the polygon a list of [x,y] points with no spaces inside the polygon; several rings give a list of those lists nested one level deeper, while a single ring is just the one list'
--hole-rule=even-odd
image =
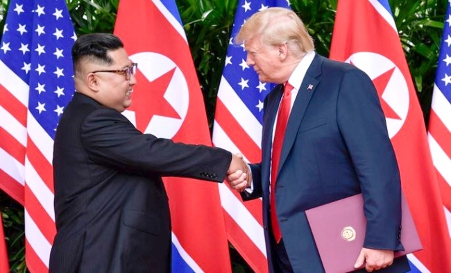
[{"label": "hand gripping the bottom edge of the maroon folder", "polygon": [[354,268],[358,269],[366,262],[366,271],[373,272],[392,265],[393,257],[393,250],[367,249],[363,247],[355,261]]}]

